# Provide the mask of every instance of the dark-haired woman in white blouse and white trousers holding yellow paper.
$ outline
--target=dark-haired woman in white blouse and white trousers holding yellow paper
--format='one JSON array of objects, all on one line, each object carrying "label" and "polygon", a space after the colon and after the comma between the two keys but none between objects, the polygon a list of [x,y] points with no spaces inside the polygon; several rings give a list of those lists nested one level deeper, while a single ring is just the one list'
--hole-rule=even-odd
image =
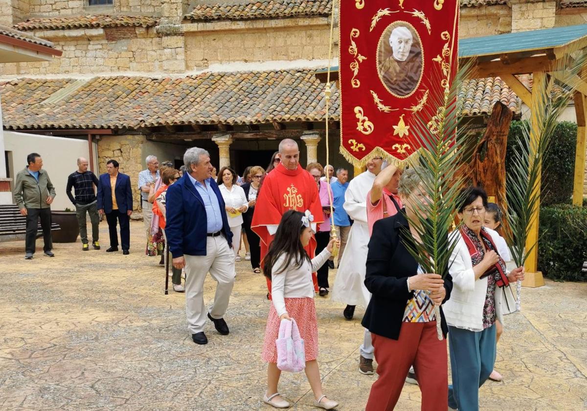
[{"label": "dark-haired woman in white blouse and white trousers holding yellow paper", "polygon": [[[232,231],[232,250],[234,250],[235,258],[238,257],[238,246],[234,240],[240,241],[241,227],[242,227],[242,213],[248,210],[249,202],[245,196],[245,191],[242,187],[237,186],[237,173],[230,167],[222,167],[220,174],[218,174],[218,186],[224,203],[226,204],[226,214],[228,217],[228,225]],[[237,258],[237,260],[240,260]]]}]

